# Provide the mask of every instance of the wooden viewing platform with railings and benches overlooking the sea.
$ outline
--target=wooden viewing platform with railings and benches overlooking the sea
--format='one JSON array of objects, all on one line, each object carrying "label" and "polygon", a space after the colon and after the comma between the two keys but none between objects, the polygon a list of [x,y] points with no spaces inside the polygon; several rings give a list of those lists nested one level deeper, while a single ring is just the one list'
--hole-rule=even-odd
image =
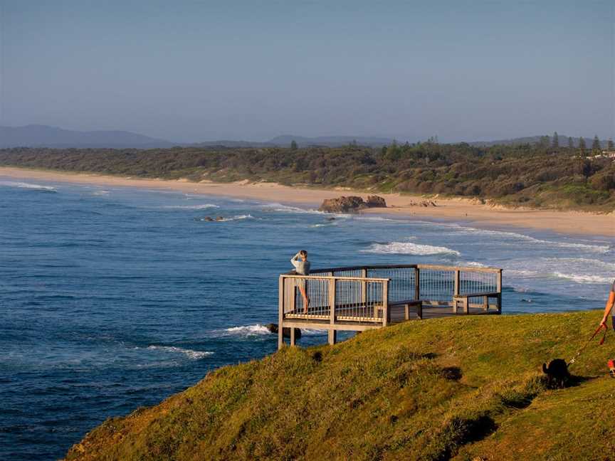
[{"label": "wooden viewing platform with railings and benches overlooking the sea", "polygon": [[[283,329],[363,332],[410,319],[501,314],[502,270],[445,265],[369,265],[280,275],[278,348]],[[302,291],[308,297],[305,306]]]}]

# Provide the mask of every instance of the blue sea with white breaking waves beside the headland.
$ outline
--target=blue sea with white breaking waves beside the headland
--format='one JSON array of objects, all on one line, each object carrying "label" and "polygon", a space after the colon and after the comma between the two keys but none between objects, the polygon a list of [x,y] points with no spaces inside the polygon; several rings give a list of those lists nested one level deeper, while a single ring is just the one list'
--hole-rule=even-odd
[{"label": "blue sea with white breaking waves beside the headland", "polygon": [[[275,351],[263,324],[276,321],[278,275],[301,248],[312,267],[503,267],[505,314],[604,307],[615,277],[612,236],[327,217],[0,177],[0,459],[56,459],[109,416]],[[326,341],[306,333],[301,345]]]}]

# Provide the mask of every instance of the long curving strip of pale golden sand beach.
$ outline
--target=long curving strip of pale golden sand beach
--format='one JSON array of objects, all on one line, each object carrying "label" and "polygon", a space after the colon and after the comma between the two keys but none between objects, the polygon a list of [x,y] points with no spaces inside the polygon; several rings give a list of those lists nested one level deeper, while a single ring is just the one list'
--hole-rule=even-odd
[{"label": "long curving strip of pale golden sand beach", "polygon": [[[134,177],[108,176],[93,173],[69,173],[0,166],[0,176],[11,179],[38,179],[41,181],[88,184],[95,186],[141,187],[208,194],[234,198],[248,198],[293,204],[319,206],[325,198],[342,195],[366,196],[366,192],[350,189],[308,189],[283,186],[275,183],[199,183],[186,179],[142,179]],[[377,194],[377,193],[370,193]],[[476,203],[471,198],[431,198],[438,206],[411,206],[425,198],[419,195],[377,194],[387,201],[387,208],[368,208],[364,213],[389,214],[391,216],[436,218],[450,221],[464,221],[473,226],[513,226],[537,230],[552,230],[557,233],[601,235],[615,237],[615,215],[586,213],[582,211],[534,210],[529,208],[504,208]]]}]

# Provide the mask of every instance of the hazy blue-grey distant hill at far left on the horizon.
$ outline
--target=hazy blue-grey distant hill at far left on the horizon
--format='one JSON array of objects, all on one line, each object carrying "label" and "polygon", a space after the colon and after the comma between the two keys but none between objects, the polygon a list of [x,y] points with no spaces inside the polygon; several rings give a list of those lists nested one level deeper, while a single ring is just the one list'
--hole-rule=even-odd
[{"label": "hazy blue-grey distant hill at far left on the horizon", "polygon": [[0,148],[5,147],[173,147],[176,143],[127,131],[79,132],[46,125],[0,127]]}]

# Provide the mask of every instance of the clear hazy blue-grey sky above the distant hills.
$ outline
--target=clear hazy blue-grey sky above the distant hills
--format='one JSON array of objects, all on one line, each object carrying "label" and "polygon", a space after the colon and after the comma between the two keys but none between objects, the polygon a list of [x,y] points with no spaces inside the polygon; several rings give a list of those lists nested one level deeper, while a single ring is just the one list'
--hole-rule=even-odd
[{"label": "clear hazy blue-grey sky above the distant hills", "polygon": [[614,4],[0,0],[0,125],[606,139]]}]

